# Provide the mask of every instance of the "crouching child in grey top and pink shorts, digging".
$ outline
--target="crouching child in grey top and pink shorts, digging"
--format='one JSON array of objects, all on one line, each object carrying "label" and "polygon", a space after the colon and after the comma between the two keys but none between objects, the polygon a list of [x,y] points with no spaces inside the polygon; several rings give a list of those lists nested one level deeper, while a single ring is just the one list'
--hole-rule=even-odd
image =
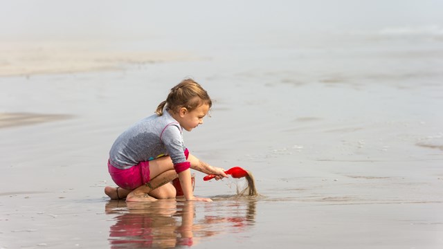
[{"label": "crouching child in grey top and pink shorts, digging", "polygon": [[126,201],[175,198],[170,182],[178,174],[187,201],[211,201],[194,196],[190,168],[215,174],[216,180],[228,176],[190,154],[182,137],[183,129],[203,124],[211,106],[208,93],[194,80],[174,86],[156,114],[129,127],[112,145],[108,169],[118,187],[105,187],[105,194]]}]

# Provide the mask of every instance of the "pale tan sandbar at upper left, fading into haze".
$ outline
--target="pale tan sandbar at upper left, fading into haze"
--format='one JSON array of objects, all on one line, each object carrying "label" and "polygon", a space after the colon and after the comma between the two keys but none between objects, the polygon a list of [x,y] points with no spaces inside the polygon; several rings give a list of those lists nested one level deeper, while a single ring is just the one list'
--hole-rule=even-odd
[{"label": "pale tan sandbar at upper left, fading into haze", "polygon": [[186,52],[127,51],[105,42],[0,42],[0,76],[123,70],[128,64],[192,60]]}]

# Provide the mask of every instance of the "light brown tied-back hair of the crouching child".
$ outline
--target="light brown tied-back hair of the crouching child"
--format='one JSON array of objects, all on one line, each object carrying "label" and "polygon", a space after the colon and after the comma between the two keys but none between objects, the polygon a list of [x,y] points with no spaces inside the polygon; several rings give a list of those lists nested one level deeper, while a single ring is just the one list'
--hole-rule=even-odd
[{"label": "light brown tied-back hair of the crouching child", "polygon": [[166,107],[172,111],[178,111],[185,107],[189,111],[197,109],[202,104],[208,104],[209,108],[213,105],[208,93],[199,83],[192,79],[185,79],[177,86],[172,87],[168,98],[159,104],[155,113],[158,116],[163,115],[163,109]]}]

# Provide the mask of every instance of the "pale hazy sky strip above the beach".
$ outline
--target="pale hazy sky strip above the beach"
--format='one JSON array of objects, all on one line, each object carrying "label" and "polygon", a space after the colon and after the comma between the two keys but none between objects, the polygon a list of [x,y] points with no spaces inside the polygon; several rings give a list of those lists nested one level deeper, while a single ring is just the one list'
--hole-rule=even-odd
[{"label": "pale hazy sky strip above the beach", "polygon": [[199,37],[443,27],[442,0],[0,0],[1,39]]}]

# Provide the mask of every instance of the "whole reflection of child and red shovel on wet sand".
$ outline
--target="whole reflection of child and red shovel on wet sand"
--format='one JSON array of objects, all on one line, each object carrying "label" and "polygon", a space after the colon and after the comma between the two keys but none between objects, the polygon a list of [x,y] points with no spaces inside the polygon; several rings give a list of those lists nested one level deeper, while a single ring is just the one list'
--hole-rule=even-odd
[{"label": "whole reflection of child and red shovel on wet sand", "polygon": [[111,248],[193,246],[217,234],[247,230],[255,223],[255,203],[251,199],[214,203],[109,201],[106,213],[116,214],[109,228],[109,243]]}]

